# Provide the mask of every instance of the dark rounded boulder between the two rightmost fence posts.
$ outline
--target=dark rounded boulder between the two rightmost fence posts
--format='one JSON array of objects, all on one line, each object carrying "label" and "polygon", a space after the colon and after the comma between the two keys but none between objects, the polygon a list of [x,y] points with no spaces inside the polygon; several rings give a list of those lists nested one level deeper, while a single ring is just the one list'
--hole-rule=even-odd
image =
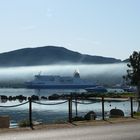
[{"label": "dark rounded boulder between the two rightmost fence posts", "polygon": [[120,109],[111,109],[110,118],[114,118],[114,117],[124,117],[124,112]]}]

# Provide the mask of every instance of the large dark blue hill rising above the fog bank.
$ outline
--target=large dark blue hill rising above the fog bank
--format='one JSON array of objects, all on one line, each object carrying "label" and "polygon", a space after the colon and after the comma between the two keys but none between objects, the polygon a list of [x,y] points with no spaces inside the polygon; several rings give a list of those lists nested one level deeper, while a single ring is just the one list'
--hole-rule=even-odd
[{"label": "large dark blue hill rising above the fog bank", "polygon": [[105,64],[118,63],[119,59],[91,56],[64,47],[44,46],[24,48],[0,54],[0,66],[35,66],[49,64]]}]

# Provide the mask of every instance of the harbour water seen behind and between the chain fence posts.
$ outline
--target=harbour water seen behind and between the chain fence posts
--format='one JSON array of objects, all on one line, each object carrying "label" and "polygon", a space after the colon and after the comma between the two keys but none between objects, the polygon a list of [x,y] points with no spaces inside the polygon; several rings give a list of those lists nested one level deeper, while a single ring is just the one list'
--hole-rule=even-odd
[{"label": "harbour water seen behind and between the chain fence posts", "polygon": [[[5,89],[0,89],[0,95],[4,93]],[[63,91],[63,92],[62,92]],[[59,95],[64,93],[70,95],[70,92],[66,90],[57,90]],[[20,102],[6,101],[5,103],[0,102],[0,115],[8,115],[10,117],[10,127],[18,127],[18,124],[22,120],[29,119],[29,103],[28,97],[38,96],[39,100],[32,102],[32,120],[38,123],[50,124],[50,123],[60,123],[67,122],[69,120],[69,108],[67,99],[59,100],[43,100],[42,96],[48,97],[56,93],[54,90],[42,90],[37,92],[33,89],[6,89],[6,95],[18,96],[22,93],[23,96],[27,97],[26,101]],[[24,104],[26,103],[26,104]],[[15,106],[20,105],[21,106]],[[7,107],[2,107],[7,106]],[[10,107],[11,106],[11,107]],[[12,107],[15,106],[15,107]],[[137,102],[133,100],[133,111],[137,110]],[[131,116],[131,102],[129,98],[104,98],[104,117],[109,118],[109,111],[111,109],[121,109],[124,112],[125,117]],[[97,115],[97,120],[102,120],[102,98],[92,97],[90,100],[72,100],[72,116],[82,116],[84,117],[88,112],[94,111]]]}]

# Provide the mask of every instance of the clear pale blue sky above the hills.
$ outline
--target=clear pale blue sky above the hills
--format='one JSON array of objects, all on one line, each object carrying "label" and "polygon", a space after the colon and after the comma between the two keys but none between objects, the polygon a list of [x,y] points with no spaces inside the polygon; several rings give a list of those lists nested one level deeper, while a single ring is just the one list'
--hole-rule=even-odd
[{"label": "clear pale blue sky above the hills", "polygon": [[128,58],[140,50],[140,0],[0,0],[0,53],[62,46]]}]

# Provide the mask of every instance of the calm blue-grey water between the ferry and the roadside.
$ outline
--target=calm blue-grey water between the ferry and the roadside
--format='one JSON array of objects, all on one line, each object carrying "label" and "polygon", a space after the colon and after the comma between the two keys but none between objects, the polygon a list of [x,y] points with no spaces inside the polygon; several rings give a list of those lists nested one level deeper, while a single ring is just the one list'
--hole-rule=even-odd
[{"label": "calm blue-grey water between the ferry and the roadside", "polygon": [[[0,95],[7,95],[7,96],[16,96],[16,95],[23,95],[23,96],[31,96],[31,95],[38,95],[38,96],[49,96],[54,93],[58,94],[69,94],[72,92],[71,90],[33,90],[33,89],[12,89],[12,88],[1,88]],[[83,92],[74,91],[74,92]],[[63,101],[39,101],[41,103],[56,103],[56,102],[63,102]],[[81,102],[81,101],[79,101]],[[0,106],[10,106],[21,104],[19,101],[7,101],[6,103],[0,102]],[[19,107],[12,107],[12,108],[3,108],[0,107],[0,115],[9,115],[10,120],[13,123],[18,123],[21,120],[28,119],[28,107],[29,104],[25,104]],[[60,105],[39,105],[32,103],[33,107],[33,120],[45,123],[55,123],[60,121],[67,121],[68,119],[68,103],[60,104]],[[102,111],[102,104],[101,102],[95,101],[93,104],[85,105],[85,104],[78,104],[78,116],[84,116],[89,111],[94,111],[97,114],[97,119],[101,119],[101,111]],[[130,101],[123,101],[123,102],[105,102],[105,112],[106,116],[108,116],[109,110],[112,108],[118,108],[125,112],[125,116],[130,116]],[[137,109],[137,103],[134,102],[134,111]],[[75,103],[73,103],[73,116],[75,116]]]}]

